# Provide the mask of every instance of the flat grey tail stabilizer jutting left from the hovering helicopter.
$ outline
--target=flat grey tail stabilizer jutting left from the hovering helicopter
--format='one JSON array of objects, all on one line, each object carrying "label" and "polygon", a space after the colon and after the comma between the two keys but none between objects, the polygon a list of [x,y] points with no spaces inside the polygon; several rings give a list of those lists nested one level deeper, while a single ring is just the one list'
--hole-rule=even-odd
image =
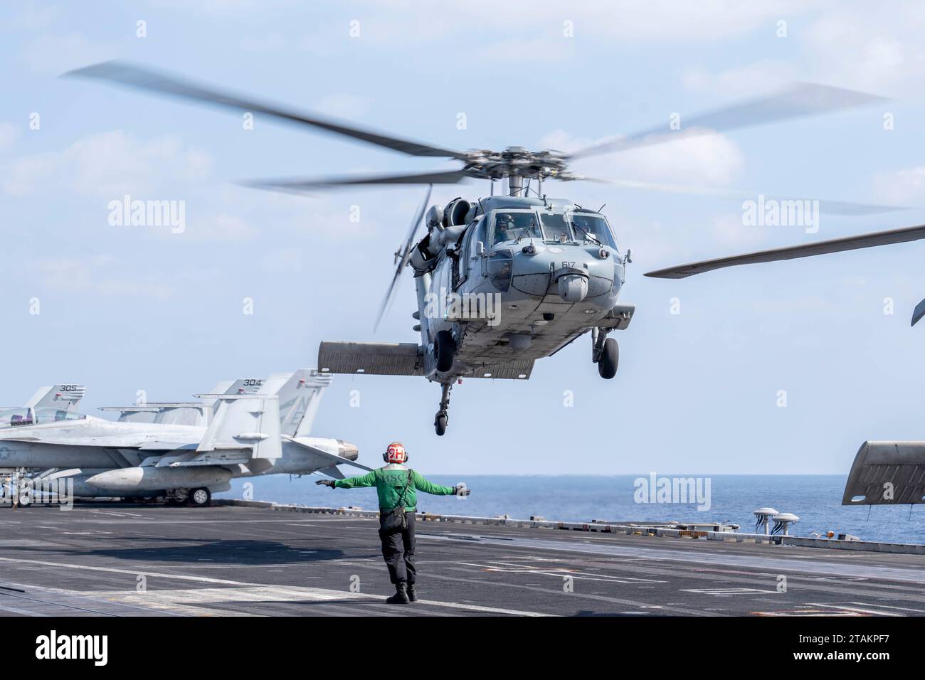
[{"label": "flat grey tail stabilizer jutting left from the hovering helicopter", "polygon": [[423,349],[413,342],[331,342],[318,346],[322,373],[423,376]]}]

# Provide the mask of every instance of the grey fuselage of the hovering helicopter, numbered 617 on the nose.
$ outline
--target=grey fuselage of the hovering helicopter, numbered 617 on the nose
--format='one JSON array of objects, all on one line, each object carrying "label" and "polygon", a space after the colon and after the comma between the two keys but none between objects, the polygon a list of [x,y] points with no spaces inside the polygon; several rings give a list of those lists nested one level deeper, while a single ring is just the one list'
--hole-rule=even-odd
[{"label": "grey fuselage of the hovering helicopter, numbered 617 on the nose", "polygon": [[[437,225],[434,216],[418,250],[438,250],[436,261],[411,260],[422,343],[430,350],[426,377],[493,377],[493,366],[503,365],[514,373],[497,377],[524,378],[517,365],[611,325],[625,261],[598,212],[569,201],[494,196],[469,204],[462,225],[448,226],[451,217]],[[517,227],[503,228],[514,220]],[[598,235],[576,229],[576,220],[593,224]],[[442,373],[432,352],[440,331],[449,331],[456,346],[452,368]]]}]

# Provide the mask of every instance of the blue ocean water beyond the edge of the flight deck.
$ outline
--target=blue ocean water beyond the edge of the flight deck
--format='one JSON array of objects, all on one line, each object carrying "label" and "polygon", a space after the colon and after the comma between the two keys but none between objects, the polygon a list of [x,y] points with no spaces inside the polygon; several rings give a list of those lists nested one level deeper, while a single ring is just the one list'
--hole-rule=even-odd
[{"label": "blue ocean water beyond the edge of the flight deck", "polygon": [[[666,475],[672,477],[671,475]],[[679,475],[682,476],[682,475]],[[841,504],[843,475],[717,475],[709,477],[709,510],[697,502],[636,502],[634,476],[466,476],[472,489],[466,498],[418,494],[418,509],[428,513],[514,518],[542,515],[550,521],[679,521],[732,522],[741,531],[755,526],[752,511],[771,506],[794,513],[800,520],[790,533],[808,536],[834,531],[865,540],[925,544],[925,506],[852,506]],[[687,476],[684,476],[687,477]],[[301,503],[310,506],[358,506],[376,510],[372,488],[318,487],[317,476],[266,476],[236,479],[216,498],[244,498],[244,483],[253,483],[254,501]],[[433,475],[431,481],[453,486],[462,476]],[[706,490],[706,487],[701,487]],[[677,499],[676,499],[677,500]],[[706,503],[704,503],[706,504]]]}]

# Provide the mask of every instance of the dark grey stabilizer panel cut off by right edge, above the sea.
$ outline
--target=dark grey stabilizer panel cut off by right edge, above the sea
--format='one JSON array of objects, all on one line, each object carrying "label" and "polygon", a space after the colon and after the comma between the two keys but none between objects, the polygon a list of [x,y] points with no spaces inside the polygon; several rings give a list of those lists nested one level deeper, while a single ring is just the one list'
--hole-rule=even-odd
[{"label": "dark grey stabilizer panel cut off by right edge, above the sea", "polygon": [[910,505],[925,502],[923,497],[925,441],[861,444],[845,483],[842,505]]}]

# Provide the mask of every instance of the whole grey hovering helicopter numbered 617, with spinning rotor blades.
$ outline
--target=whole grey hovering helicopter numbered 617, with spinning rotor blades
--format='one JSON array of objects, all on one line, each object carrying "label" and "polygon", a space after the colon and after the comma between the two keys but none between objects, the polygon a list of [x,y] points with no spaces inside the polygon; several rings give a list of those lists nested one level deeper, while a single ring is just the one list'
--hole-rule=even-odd
[{"label": "whole grey hovering helicopter numbered 617, with spinning rotor blades", "polygon": [[[509,146],[502,151],[458,151],[364,130],[345,122],[219,92],[148,68],[103,62],[69,71],[66,76],[105,80],[198,103],[265,115],[366,142],[405,155],[450,158],[453,169],[413,174],[321,179],[272,179],[246,186],[282,192],[312,192],[361,185],[427,187],[408,233],[396,251],[395,274],[376,316],[374,329],[388,310],[405,268],[411,268],[417,296],[413,329],[419,342],[322,341],[322,373],[421,376],[440,385],[434,427],[445,434],[450,390],[464,377],[525,380],[537,359],[560,352],[590,335],[590,359],[605,379],[616,376],[619,346],[609,337],[629,327],[635,305],[618,302],[626,266],[607,217],[566,198],[550,198],[544,180],[590,180],[631,189],[752,197],[754,192],[716,190],[635,180],[598,179],[573,172],[569,165],[589,156],[623,152],[716,131],[734,130],[867,105],[880,97],[812,83],[797,83],[769,97],[714,109],[685,118],[683,129],[657,125],[635,134],[597,142],[572,153],[531,151]],[[489,182],[489,195],[446,205],[429,205],[434,185],[465,179]],[[503,191],[495,193],[496,182]],[[531,195],[532,194],[532,195]],[[893,206],[821,202],[820,210],[865,215]],[[416,239],[421,224],[426,235]]]}]

